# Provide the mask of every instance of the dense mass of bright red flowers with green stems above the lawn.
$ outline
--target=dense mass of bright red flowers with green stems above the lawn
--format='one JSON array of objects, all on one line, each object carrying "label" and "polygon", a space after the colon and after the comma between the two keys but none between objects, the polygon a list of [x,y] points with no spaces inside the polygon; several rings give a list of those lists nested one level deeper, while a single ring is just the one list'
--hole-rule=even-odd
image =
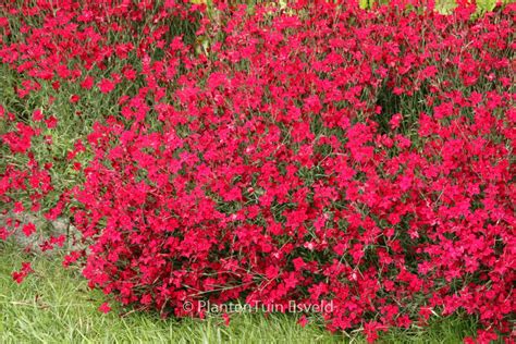
[{"label": "dense mass of bright red flowers with green stems above the lawn", "polygon": [[69,217],[63,265],[163,317],[331,303],[374,341],[465,311],[512,341],[514,4],[0,9],[0,238]]}]

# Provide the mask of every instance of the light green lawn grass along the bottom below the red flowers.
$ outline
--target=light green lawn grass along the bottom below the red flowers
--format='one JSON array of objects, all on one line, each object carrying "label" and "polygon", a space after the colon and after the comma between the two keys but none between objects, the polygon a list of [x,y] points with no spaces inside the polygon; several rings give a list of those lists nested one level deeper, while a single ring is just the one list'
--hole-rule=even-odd
[{"label": "light green lawn grass along the bottom below the red flowers", "polygon": [[[33,262],[35,273],[16,284],[11,272]],[[102,293],[90,291],[59,255],[22,256],[0,244],[1,343],[364,343],[361,333],[332,334],[320,323],[302,328],[294,315],[238,314],[230,325],[221,317],[162,320],[155,314],[126,312],[113,306],[98,311]],[[426,329],[392,330],[380,343],[459,343],[476,332],[472,319],[435,318]]]}]

